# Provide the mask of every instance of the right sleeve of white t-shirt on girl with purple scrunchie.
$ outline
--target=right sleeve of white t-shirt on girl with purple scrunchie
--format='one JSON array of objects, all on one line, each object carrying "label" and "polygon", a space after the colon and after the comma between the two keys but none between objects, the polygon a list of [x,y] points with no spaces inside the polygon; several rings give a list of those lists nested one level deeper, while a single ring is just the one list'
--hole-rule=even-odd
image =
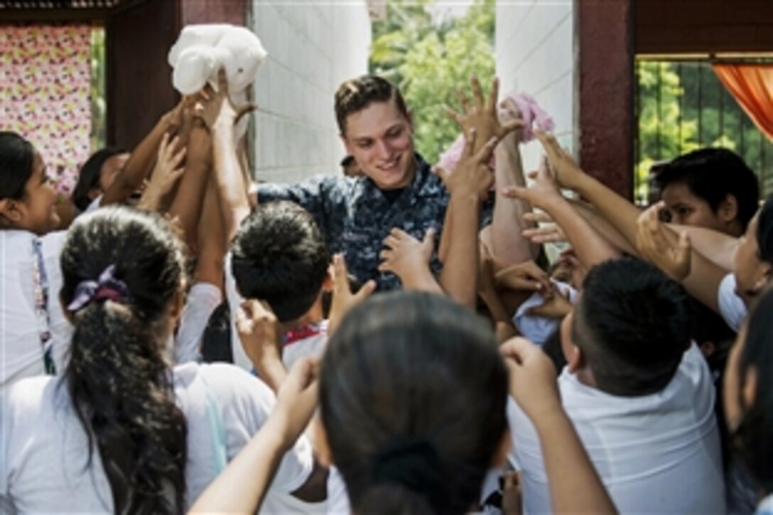
[{"label": "right sleeve of white t-shirt on girl with purple scrunchie", "polygon": [[[266,423],[276,397],[263,381],[237,367],[213,364],[206,368],[209,369],[207,382],[215,388],[223,407],[226,452],[230,461]],[[312,445],[301,436],[282,458],[270,490],[294,492],[303,486],[313,468]]]}]

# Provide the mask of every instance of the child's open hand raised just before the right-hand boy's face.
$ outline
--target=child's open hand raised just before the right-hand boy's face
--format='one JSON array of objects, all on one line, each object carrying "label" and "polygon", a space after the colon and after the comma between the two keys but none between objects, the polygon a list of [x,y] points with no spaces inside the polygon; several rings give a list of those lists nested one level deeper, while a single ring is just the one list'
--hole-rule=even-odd
[{"label": "child's open hand raised just before the right-hand boy's face", "polygon": [[660,268],[669,278],[683,281],[690,275],[690,237],[683,232],[676,244],[669,241],[667,229],[660,222],[660,212],[664,209],[666,203],[661,200],[639,215],[636,248],[645,260]]}]

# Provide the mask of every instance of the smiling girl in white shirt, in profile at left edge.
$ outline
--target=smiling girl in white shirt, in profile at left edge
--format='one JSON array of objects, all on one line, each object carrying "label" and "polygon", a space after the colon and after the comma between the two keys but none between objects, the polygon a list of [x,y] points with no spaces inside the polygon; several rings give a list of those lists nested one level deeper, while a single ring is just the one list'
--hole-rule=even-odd
[{"label": "smiling girl in white shirt, in profile at left edge", "polygon": [[21,377],[61,367],[69,333],[56,299],[63,234],[49,234],[55,199],[39,152],[0,131],[0,396]]}]

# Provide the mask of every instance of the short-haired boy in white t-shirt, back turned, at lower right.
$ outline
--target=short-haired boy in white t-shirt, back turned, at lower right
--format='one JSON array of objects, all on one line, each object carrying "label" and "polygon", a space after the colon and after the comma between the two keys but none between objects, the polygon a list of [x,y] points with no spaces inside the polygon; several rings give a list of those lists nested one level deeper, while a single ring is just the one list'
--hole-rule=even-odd
[{"label": "short-haired boy in white t-shirt, back turned, at lower right", "polygon": [[[724,511],[712,377],[683,289],[643,261],[591,269],[561,325],[562,404],[621,513]],[[540,440],[509,405],[525,513],[550,512]]]}]

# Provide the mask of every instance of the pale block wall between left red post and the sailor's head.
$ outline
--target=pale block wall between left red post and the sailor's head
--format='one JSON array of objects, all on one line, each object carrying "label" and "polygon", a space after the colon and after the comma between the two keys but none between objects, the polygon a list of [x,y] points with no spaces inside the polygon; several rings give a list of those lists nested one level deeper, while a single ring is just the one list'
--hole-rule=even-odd
[{"label": "pale block wall between left red post and the sailor's head", "polygon": [[258,72],[257,178],[295,182],[339,173],[344,155],[333,94],[366,73],[371,42],[365,0],[253,0],[252,26],[269,57]]}]

